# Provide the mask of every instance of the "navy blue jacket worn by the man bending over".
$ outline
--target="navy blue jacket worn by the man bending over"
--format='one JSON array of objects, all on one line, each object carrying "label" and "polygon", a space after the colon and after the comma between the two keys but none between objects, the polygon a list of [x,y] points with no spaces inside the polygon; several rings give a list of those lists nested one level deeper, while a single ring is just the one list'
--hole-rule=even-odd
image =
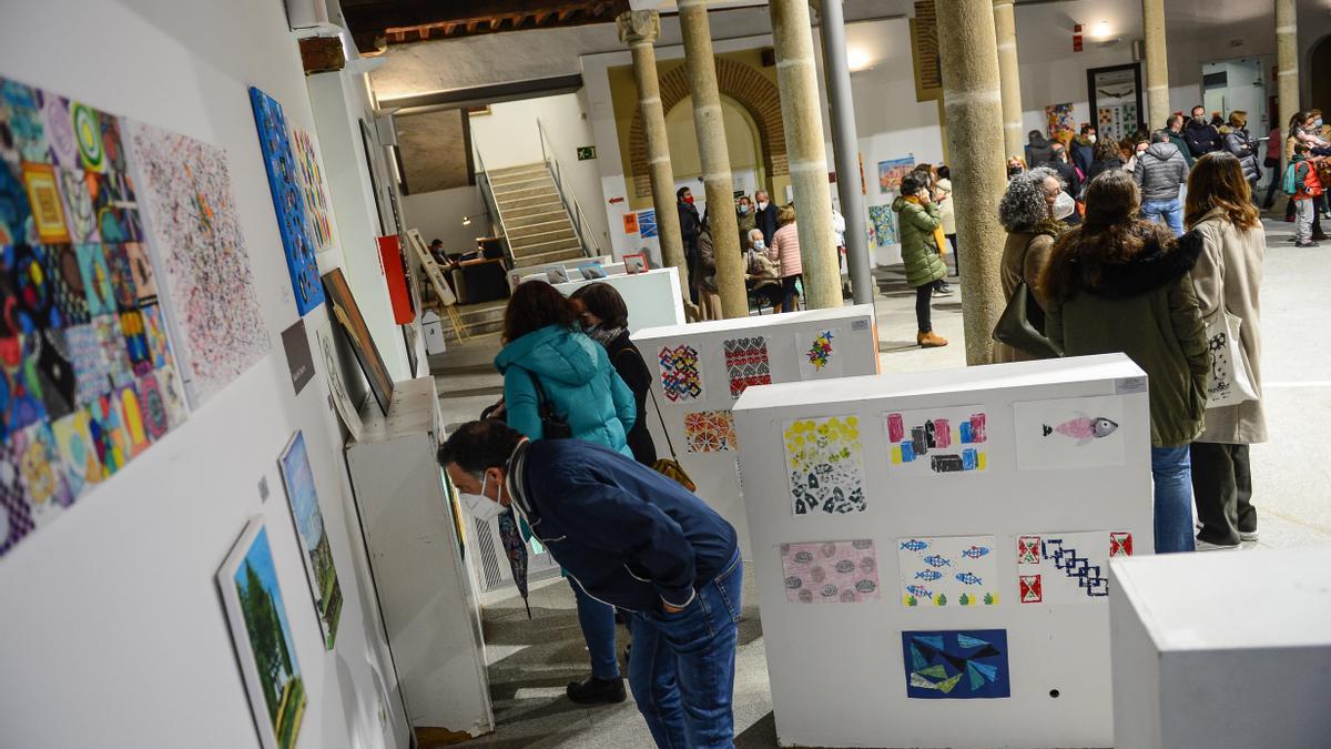
[{"label": "navy blue jacket worn by the man bending over", "polygon": [[651,468],[580,440],[523,442],[506,486],[532,534],[587,594],[659,613],[729,572],[735,528]]}]

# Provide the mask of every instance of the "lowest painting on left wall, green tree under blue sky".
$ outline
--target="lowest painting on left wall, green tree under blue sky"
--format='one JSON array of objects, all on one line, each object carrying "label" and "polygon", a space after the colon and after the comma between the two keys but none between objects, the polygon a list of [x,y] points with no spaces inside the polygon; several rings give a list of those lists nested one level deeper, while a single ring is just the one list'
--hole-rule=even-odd
[{"label": "lowest painting on left wall, green tree under blue sky", "polygon": [[307,697],[268,528],[249,521],[217,572],[222,606],[264,749],[291,749]]}]

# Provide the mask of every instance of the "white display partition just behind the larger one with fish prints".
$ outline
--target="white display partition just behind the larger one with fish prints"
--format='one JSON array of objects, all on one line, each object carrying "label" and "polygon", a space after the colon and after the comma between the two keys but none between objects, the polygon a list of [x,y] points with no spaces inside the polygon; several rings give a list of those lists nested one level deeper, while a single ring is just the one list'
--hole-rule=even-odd
[{"label": "white display partition just behind the larger one with fish prints", "polygon": [[[673,268],[671,271],[673,272]],[[655,273],[655,271],[652,272]],[[634,276],[626,277],[632,279]],[[823,369],[815,369],[808,364],[805,353],[813,339],[824,331],[833,331],[835,353]],[[732,368],[727,365],[727,341],[743,339],[748,339],[751,343],[757,339],[763,340],[771,382],[797,382],[801,377],[821,380],[837,376],[873,374],[878,371],[878,343],[873,324],[873,307],[868,304],[736,320],[713,320],[669,328],[651,328],[634,333],[634,343],[643,352],[647,369],[654,374],[652,393],[660,405],[662,417],[666,421],[666,429],[669,429],[669,440],[675,444],[679,461],[697,484],[697,496],[703,497],[739,530],[740,554],[747,561],[753,558],[753,552],[749,544],[748,520],[744,514],[744,498],[735,462],[739,453],[733,448],[715,452],[692,450],[689,429],[685,426],[685,420],[691,418],[689,414],[707,412],[724,414],[735,405],[736,396],[732,394],[731,389]],[[688,347],[697,352],[703,382],[701,393],[697,397],[681,393],[677,400],[671,400],[662,389],[660,352],[677,347]],[[805,369],[801,369],[801,357],[804,357]],[[731,360],[739,364],[733,355]],[[651,400],[647,402],[647,413],[643,417],[647,418],[652,440],[656,442],[656,454],[668,456],[662,418],[656,417],[656,409]]]}]

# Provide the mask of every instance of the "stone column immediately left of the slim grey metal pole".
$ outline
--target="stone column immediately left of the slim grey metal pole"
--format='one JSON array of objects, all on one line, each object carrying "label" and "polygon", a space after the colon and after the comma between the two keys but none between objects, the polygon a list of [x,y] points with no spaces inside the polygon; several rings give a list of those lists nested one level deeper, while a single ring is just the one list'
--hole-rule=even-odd
[{"label": "stone column immediately left of the slim grey metal pole", "polygon": [[[813,59],[813,27],[808,0],[772,0],[772,47],[776,88],[785,121],[785,152],[791,160],[795,216],[804,267],[804,304],[809,309],[841,307],[841,263],[832,235],[832,195],[823,145],[823,112]],[[858,167],[843,179],[853,180]],[[847,232],[858,231],[847,221]]]}]

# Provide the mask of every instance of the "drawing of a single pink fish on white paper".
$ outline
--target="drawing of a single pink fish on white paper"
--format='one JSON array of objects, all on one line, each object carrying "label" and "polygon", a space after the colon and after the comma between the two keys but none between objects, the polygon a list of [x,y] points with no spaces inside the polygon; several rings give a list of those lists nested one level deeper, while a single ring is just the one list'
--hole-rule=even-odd
[{"label": "drawing of a single pink fish on white paper", "polygon": [[1013,404],[1018,470],[1123,465],[1123,400],[1115,396]]}]

